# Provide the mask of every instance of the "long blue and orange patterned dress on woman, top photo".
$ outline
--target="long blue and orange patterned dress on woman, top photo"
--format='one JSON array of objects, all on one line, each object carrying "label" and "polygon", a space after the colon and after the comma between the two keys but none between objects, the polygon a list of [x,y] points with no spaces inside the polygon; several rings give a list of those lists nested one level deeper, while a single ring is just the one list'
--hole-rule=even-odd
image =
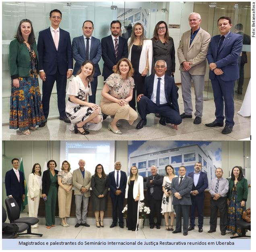
[{"label": "long blue and orange patterned dress on woman, top photo", "polygon": [[32,46],[29,56],[29,77],[19,77],[19,87],[13,86],[13,80],[11,83],[10,129],[27,130],[46,122],[37,77],[37,58]]}]

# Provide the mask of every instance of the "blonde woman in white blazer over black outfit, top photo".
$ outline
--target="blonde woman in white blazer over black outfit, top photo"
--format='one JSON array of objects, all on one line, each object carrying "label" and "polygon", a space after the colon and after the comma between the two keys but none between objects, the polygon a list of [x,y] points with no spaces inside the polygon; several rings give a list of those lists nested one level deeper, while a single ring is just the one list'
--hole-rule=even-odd
[{"label": "blonde woman in white blazer over black outfit, top photo", "polygon": [[128,59],[132,62],[134,68],[133,79],[135,83],[129,105],[135,110],[136,96],[143,93],[145,77],[148,73],[151,75],[153,57],[152,40],[146,39],[144,27],[140,23],[134,24],[132,28],[132,36],[128,39],[128,50]]}]

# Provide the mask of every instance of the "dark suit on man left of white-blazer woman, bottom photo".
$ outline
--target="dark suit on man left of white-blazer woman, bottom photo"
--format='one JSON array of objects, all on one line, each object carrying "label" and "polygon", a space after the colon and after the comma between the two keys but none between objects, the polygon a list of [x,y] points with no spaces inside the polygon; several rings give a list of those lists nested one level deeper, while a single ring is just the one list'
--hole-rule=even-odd
[{"label": "dark suit on man left of white-blazer woman, bottom photo", "polygon": [[[115,179],[115,171],[112,171],[107,175],[107,185],[109,186],[110,193],[109,197],[112,201],[112,218],[113,223],[117,224],[117,215],[119,217],[119,224],[123,224],[123,207],[124,207],[124,196],[125,196],[125,189],[127,183],[127,176],[124,171],[120,170],[120,185],[116,187],[116,179]],[[121,190],[122,193],[120,195],[116,195],[116,190]]]}]

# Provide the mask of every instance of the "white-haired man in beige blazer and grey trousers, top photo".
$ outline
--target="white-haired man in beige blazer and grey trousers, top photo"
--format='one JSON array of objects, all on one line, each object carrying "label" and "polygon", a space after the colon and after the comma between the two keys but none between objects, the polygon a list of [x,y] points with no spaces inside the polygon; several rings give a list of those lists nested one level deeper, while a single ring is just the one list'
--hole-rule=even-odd
[{"label": "white-haired man in beige blazer and grey trousers, top photo", "polygon": [[200,14],[192,12],[188,17],[191,30],[183,33],[178,47],[180,73],[182,81],[182,98],[184,113],[181,118],[192,118],[191,80],[196,96],[196,112],[194,124],[202,121],[204,75],[206,71],[206,55],[211,36],[200,28]]}]

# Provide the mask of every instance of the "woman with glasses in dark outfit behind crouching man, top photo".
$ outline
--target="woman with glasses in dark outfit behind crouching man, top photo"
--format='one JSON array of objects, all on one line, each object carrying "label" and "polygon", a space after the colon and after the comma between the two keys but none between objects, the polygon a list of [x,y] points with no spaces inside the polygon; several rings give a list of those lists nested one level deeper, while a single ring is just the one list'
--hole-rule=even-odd
[{"label": "woman with glasses in dark outfit behind crouching man, top photo", "polygon": [[163,59],[167,64],[165,74],[172,76],[175,72],[175,49],[172,37],[169,37],[168,26],[165,21],[159,21],[154,30],[153,38],[152,74],[155,74],[155,63]]}]

